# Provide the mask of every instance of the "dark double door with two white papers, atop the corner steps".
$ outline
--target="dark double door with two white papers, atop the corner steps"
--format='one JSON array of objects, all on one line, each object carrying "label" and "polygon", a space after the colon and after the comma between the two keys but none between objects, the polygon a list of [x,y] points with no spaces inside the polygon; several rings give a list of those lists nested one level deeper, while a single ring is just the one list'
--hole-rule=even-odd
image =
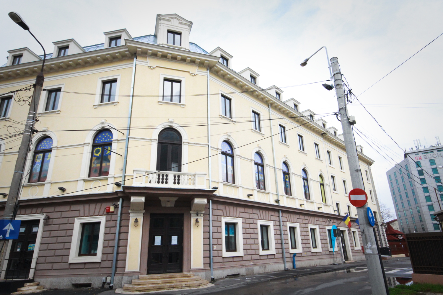
[{"label": "dark double door with two white papers, atop the corner steps", "polygon": [[148,273],[182,272],[183,214],[151,214]]}]

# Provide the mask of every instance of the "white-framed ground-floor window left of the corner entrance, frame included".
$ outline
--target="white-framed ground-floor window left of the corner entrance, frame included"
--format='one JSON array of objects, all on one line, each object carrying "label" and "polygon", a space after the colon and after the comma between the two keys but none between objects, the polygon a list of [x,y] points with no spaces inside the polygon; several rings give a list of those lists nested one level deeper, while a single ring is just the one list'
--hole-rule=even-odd
[{"label": "white-framed ground-floor window left of the corner entrance, frame included", "polygon": [[105,223],[106,216],[75,218],[69,263],[101,261]]}]

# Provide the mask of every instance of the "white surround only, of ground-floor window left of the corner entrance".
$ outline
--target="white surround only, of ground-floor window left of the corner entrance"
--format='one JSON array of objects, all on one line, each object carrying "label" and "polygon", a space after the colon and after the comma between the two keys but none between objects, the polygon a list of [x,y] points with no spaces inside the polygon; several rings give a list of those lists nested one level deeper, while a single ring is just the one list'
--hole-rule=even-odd
[{"label": "white surround only, of ground-floor window left of the corner entrance", "polygon": [[[82,239],[82,223],[100,222],[100,234],[98,237],[96,256],[78,256],[80,241]],[[69,263],[101,262],[103,252],[103,238],[105,236],[106,216],[77,217],[74,221],[72,233],[71,250],[69,253]]]}]

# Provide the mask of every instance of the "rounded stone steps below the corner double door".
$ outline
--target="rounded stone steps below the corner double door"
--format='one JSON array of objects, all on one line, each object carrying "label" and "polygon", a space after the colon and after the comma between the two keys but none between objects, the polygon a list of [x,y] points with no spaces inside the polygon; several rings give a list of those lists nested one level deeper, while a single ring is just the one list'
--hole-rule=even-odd
[{"label": "rounded stone steps below the corner double door", "polygon": [[191,272],[164,273],[156,275],[140,275],[139,279],[132,280],[132,284],[124,284],[123,290],[129,292],[148,292],[205,287],[209,284],[200,276]]}]

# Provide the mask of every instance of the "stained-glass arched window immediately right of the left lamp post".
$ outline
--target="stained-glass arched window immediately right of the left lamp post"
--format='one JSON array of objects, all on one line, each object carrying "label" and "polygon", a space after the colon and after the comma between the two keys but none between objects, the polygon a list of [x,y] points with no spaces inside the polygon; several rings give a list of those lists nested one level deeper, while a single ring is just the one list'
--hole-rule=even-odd
[{"label": "stained-glass arched window immediately right of the left lamp post", "polygon": [[35,147],[29,182],[42,182],[48,176],[49,160],[51,159],[52,138],[42,138]]}]

